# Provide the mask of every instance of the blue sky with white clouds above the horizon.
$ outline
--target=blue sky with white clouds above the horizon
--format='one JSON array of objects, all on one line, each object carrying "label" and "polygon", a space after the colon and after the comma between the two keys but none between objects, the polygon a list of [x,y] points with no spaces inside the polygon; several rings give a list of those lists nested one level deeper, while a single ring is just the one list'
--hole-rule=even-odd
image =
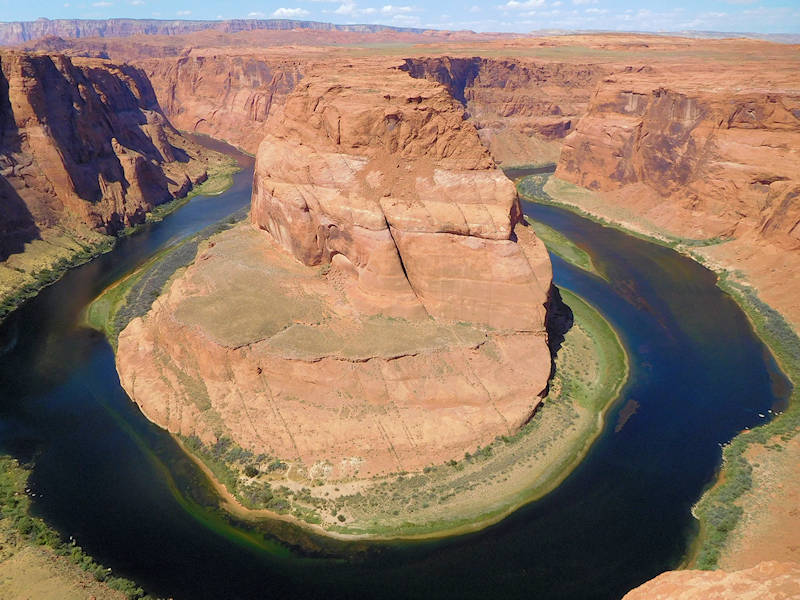
[{"label": "blue sky with white clouds above the horizon", "polygon": [[[394,1],[394,0],[393,0]],[[3,21],[37,17],[286,18],[436,29],[714,30],[800,33],[800,0],[0,0]]]}]

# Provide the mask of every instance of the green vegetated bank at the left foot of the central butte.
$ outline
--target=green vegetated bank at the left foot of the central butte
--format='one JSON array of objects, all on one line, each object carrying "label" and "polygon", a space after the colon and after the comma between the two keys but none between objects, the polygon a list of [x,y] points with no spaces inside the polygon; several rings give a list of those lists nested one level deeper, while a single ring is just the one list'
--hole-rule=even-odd
[{"label": "green vegetated bank at the left foot of the central butte", "polygon": [[158,252],[145,264],[106,288],[87,308],[86,321],[102,331],[116,347],[119,333],[136,317],[146,314],[175,272],[191,263],[199,244],[229,229],[247,216],[241,209],[226,221],[206,227],[175,246]]}]

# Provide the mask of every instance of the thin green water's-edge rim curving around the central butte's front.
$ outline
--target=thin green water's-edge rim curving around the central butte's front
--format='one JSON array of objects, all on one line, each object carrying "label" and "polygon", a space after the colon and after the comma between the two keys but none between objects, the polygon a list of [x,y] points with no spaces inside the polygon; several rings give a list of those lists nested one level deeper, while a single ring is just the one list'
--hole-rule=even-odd
[{"label": "thin green water's-edge rim curving around the central butte's front", "polygon": [[[553,491],[583,462],[587,454],[590,452],[594,442],[603,433],[608,412],[617,405],[617,402],[621,397],[622,389],[629,379],[630,359],[616,330],[614,330],[606,318],[589,302],[577,294],[570,292],[569,290],[562,289],[562,292],[565,294],[565,296],[569,297],[567,302],[573,302],[575,304],[581,303],[584,305],[583,307],[577,307],[577,313],[585,314],[585,311],[587,310],[593,311],[593,313],[602,321],[602,323],[604,323],[608,331],[611,332],[613,336],[612,343],[615,344],[620,350],[623,372],[616,378],[613,392],[610,397],[594,399],[595,402],[600,404],[599,409],[595,410],[594,412],[592,409],[585,409],[586,412],[593,417],[591,419],[592,422],[588,424],[589,429],[580,430],[578,434],[574,436],[574,438],[565,442],[566,448],[561,449],[559,456],[555,460],[546,461],[547,464],[545,465],[544,472],[534,478],[533,481],[528,482],[532,485],[525,486],[522,491],[516,491],[508,494],[505,499],[501,498],[497,501],[501,503],[501,506],[499,507],[491,508],[493,502],[484,502],[484,506],[490,508],[487,511],[483,511],[481,516],[478,518],[467,515],[466,517],[462,518],[464,522],[459,522],[459,518],[456,517],[454,519],[440,521],[438,525],[436,522],[433,522],[417,526],[412,532],[404,533],[402,531],[396,531],[395,533],[381,533],[376,531],[348,531],[345,527],[339,527],[336,525],[334,525],[334,528],[326,528],[321,524],[308,522],[292,514],[280,513],[268,508],[250,508],[245,506],[231,492],[228,486],[220,481],[212,468],[201,456],[188,448],[186,443],[184,443],[180,437],[175,434],[171,434],[171,436],[181,450],[195,464],[197,464],[201,471],[205,474],[211,486],[219,496],[220,508],[234,517],[240,518],[249,523],[269,523],[270,521],[280,521],[284,523],[290,523],[293,526],[316,535],[341,541],[353,542],[365,540],[375,542],[431,540],[454,537],[480,531],[502,521],[523,506],[539,500]],[[553,401],[554,400],[551,400],[551,402]],[[545,399],[545,403],[547,403],[547,399]],[[573,403],[577,404],[577,401],[573,401]],[[547,405],[541,407],[536,414],[539,414],[539,411],[546,411],[547,408]],[[534,430],[527,433],[520,433],[518,435],[523,437],[530,436],[531,438],[534,438],[536,433],[536,430]],[[495,443],[497,442],[494,442],[493,444]],[[415,475],[421,475],[421,473],[409,473],[406,475],[409,477],[414,477]],[[391,477],[387,476],[387,480],[390,478]],[[367,480],[364,483],[370,484],[370,481]],[[376,482],[372,483],[377,485]],[[365,492],[365,494],[367,493],[368,492]],[[395,529],[397,530],[399,528]]]}]

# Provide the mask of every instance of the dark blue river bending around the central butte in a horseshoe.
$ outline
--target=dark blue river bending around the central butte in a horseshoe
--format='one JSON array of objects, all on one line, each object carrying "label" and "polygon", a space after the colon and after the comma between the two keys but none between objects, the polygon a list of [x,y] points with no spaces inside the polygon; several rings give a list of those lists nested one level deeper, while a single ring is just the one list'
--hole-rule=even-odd
[{"label": "dark blue river bending around the central butte in a horseshoe", "polygon": [[554,257],[557,284],[598,306],[629,348],[623,399],[638,409],[615,433],[621,402],[555,492],[483,532],[361,544],[346,560],[299,556],[215,512],[202,475],[119,387],[108,344],[78,325],[109,283],[246,205],[251,175],[122,240],[0,328],[0,347],[16,340],[0,357],[0,446],[35,459],[36,511],[155,594],[618,598],[679,563],[692,534],[690,506],[714,474],[719,444],[780,403],[773,390],[785,396],[785,380],[712,273],[671,250],[527,204],[526,213],[585,248],[609,276],[611,284]]}]

